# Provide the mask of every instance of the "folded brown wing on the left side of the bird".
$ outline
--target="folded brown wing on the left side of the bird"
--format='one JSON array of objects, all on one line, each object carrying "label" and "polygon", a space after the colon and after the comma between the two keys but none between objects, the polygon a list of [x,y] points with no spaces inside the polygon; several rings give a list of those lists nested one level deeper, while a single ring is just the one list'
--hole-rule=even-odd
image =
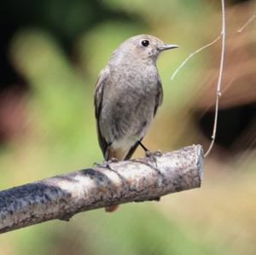
[{"label": "folded brown wing on the left side of the bird", "polygon": [[100,147],[102,149],[103,155],[106,154],[108,149],[108,142],[102,136],[102,132],[100,129],[100,116],[102,112],[102,101],[103,101],[103,94],[104,94],[104,87],[106,81],[108,80],[109,70],[107,68],[103,69],[100,73],[99,77],[96,81],[95,86],[95,94],[94,94],[94,106],[95,106],[95,117],[96,117],[96,129],[97,129],[97,136]]}]

